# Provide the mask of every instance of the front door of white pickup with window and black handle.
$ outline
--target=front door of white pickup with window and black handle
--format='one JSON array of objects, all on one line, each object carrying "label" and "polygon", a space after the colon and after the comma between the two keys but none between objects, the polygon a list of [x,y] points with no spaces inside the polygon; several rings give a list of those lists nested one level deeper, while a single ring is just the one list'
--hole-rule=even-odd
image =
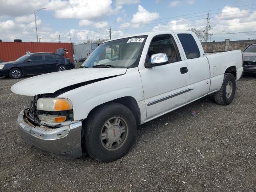
[{"label": "front door of white pickup with window and black handle", "polygon": [[171,34],[155,36],[148,49],[152,54],[165,53],[168,64],[152,68],[139,67],[146,102],[147,120],[186,104],[190,98],[188,65],[181,60],[178,47]]}]

